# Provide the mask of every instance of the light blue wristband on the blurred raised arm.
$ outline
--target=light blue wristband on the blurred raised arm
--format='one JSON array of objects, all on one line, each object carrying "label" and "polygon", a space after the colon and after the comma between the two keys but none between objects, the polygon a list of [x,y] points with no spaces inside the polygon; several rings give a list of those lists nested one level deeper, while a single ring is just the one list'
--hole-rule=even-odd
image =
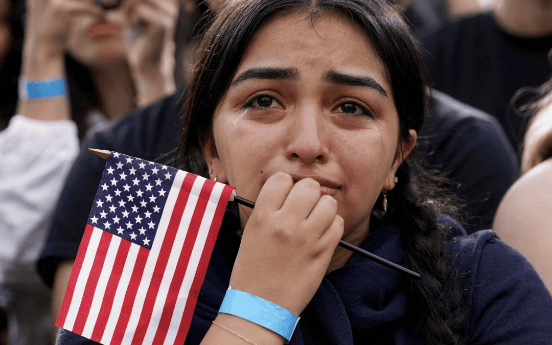
[{"label": "light blue wristband on the blurred raised arm", "polygon": [[19,79],[19,98],[28,99],[55,99],[67,95],[67,78],[57,79]]}]

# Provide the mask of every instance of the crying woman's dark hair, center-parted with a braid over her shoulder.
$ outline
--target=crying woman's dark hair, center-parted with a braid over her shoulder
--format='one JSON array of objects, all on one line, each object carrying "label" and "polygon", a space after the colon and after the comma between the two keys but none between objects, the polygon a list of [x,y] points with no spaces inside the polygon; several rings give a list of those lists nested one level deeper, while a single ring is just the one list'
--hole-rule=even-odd
[{"label": "crying woman's dark hair, center-parted with a braid over her shoulder", "polygon": [[[214,142],[215,107],[229,87],[243,52],[269,18],[295,10],[305,12],[311,20],[340,13],[359,26],[387,67],[386,77],[399,114],[399,142],[410,141],[409,129],[420,132],[426,113],[427,72],[417,41],[392,4],[374,0],[232,2],[218,16],[205,20],[199,30],[202,35],[190,77],[177,165],[206,176],[201,148]],[[447,193],[435,187],[420,160],[413,152],[401,164],[399,183],[388,193],[390,207],[384,213],[381,197],[376,202],[370,233],[392,220],[403,230],[401,247],[407,266],[421,274],[421,279],[411,280],[408,291],[407,327],[425,344],[461,344],[466,321],[463,279],[458,278],[453,259],[443,251],[450,235],[438,220],[439,214],[457,217],[458,208]]]}]

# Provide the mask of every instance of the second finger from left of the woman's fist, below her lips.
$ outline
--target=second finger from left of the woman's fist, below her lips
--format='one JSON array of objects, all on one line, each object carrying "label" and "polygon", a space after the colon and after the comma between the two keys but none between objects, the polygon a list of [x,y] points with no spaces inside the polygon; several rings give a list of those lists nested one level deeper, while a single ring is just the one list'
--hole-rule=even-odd
[{"label": "second finger from left of the woman's fist, below her lips", "polygon": [[304,220],[320,199],[320,183],[304,178],[295,183],[285,199],[282,211],[293,214],[295,219]]}]

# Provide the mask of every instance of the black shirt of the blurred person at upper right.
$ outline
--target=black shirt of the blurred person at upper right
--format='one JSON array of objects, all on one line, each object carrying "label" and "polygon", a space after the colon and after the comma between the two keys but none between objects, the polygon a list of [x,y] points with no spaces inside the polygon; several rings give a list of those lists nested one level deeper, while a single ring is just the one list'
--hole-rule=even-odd
[{"label": "black shirt of the blurred person at upper right", "polygon": [[435,88],[495,116],[518,150],[528,121],[514,114],[509,102],[518,89],[550,77],[552,36],[509,35],[484,13],[444,26],[422,44]]}]

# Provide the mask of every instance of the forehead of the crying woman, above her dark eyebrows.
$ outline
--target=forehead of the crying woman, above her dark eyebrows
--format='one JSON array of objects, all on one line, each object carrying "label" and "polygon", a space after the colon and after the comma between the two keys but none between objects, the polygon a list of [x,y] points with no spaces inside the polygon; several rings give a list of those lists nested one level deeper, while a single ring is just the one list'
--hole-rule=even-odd
[{"label": "forehead of the crying woman, above her dark eyebrows", "polygon": [[[377,75],[380,83],[386,83],[385,89],[391,92],[389,74],[385,64],[376,53],[370,39],[360,25],[339,12],[326,11],[312,15],[304,11],[295,11],[274,15],[259,26],[250,44],[248,44],[236,75],[251,65],[255,67],[291,66],[291,59],[306,52],[312,63],[320,61],[338,66],[339,72],[365,74],[370,71]],[[317,55],[319,54],[319,55]],[[318,59],[326,54],[327,59]],[[335,70],[335,68],[331,68]]]}]

